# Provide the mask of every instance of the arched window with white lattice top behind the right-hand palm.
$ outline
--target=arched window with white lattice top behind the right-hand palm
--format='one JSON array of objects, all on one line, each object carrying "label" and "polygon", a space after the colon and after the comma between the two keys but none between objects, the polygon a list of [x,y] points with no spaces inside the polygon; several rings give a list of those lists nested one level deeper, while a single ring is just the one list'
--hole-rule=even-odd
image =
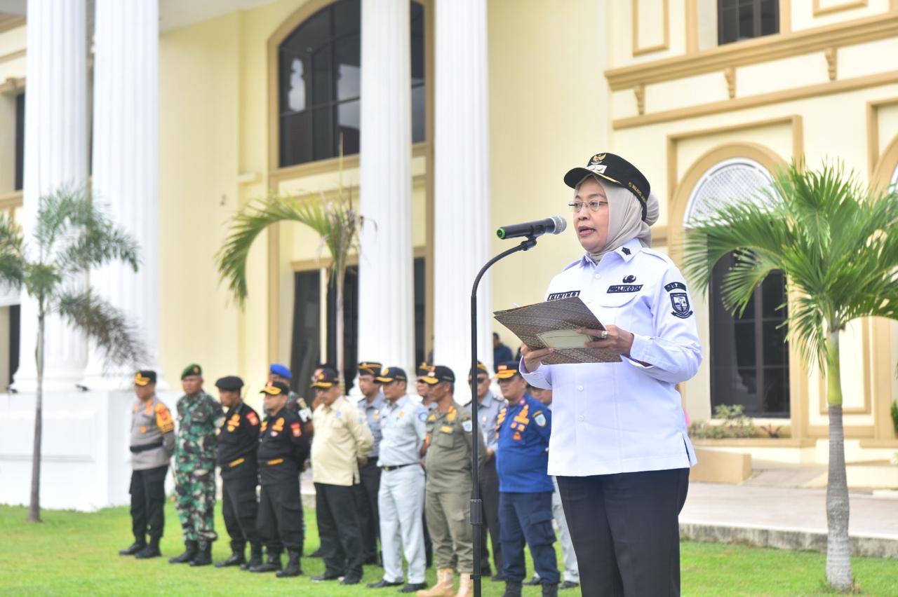
[{"label": "arched window with white lattice top behind the right-hand palm", "polygon": [[[709,169],[692,191],[686,208],[686,226],[723,202],[753,198],[770,201],[770,172],[754,160],[725,160]],[[754,290],[743,316],[730,315],[720,288],[734,256],[715,266],[709,289],[709,355],[711,406],[742,404],[755,417],[788,417],[788,344],[786,279],[770,273]]]}]

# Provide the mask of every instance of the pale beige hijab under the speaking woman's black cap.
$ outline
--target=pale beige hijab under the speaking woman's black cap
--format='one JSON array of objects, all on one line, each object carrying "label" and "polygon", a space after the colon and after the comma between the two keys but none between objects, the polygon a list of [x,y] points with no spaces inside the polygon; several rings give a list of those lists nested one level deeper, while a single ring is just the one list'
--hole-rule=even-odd
[{"label": "pale beige hijab under the speaking woman's black cap", "polygon": [[[629,190],[605,182],[594,175],[608,197],[608,238],[605,245],[597,253],[589,253],[589,258],[596,264],[606,253],[622,247],[632,238],[638,238],[643,247],[652,246],[652,230],[649,228],[658,221],[658,197],[648,194],[646,220],[642,219],[642,203]],[[588,177],[587,177],[588,178]],[[585,180],[585,178],[584,178]],[[583,184],[583,181],[580,181]],[[579,187],[579,185],[577,185]]]}]

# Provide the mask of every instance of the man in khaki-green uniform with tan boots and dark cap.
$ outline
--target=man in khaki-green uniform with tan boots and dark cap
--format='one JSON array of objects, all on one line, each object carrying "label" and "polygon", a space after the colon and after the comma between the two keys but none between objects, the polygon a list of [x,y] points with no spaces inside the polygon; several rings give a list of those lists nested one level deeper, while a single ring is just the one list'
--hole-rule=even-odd
[{"label": "man in khaki-green uniform with tan boots and dark cap", "polygon": [[[472,434],[471,414],[453,400],[455,375],[437,365],[424,377],[436,409],[427,416],[427,437],[421,449],[427,454],[425,511],[434,542],[437,582],[418,597],[468,597],[473,595],[474,546],[471,537],[471,452],[478,444],[480,467],[487,458],[483,436]],[[453,556],[461,576],[454,591]]]}]

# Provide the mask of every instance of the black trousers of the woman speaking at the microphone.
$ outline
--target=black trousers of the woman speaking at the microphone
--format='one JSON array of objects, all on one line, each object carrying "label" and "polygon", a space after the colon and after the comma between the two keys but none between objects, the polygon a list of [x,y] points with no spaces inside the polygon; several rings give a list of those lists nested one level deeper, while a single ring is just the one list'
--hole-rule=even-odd
[{"label": "black trousers of the woman speaking at the microphone", "polygon": [[558,477],[584,595],[680,594],[689,469]]}]

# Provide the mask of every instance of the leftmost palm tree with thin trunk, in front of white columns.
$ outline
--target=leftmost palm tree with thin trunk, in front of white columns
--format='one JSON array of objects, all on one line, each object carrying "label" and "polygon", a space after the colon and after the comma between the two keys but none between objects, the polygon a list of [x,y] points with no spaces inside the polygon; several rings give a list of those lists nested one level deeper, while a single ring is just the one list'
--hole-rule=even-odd
[{"label": "leftmost palm tree with thin trunk, in front of white columns", "polygon": [[77,288],[76,276],[121,260],[138,266],[136,240],[112,222],[84,189],[59,188],[40,197],[31,246],[22,229],[0,216],[0,282],[24,290],[37,302],[38,337],[34,358],[37,395],[31,502],[28,520],[40,522],[40,443],[43,423],[44,324],[58,314],[96,342],[105,362],[136,364],[144,356],[142,342],[126,317],[90,288]]}]

